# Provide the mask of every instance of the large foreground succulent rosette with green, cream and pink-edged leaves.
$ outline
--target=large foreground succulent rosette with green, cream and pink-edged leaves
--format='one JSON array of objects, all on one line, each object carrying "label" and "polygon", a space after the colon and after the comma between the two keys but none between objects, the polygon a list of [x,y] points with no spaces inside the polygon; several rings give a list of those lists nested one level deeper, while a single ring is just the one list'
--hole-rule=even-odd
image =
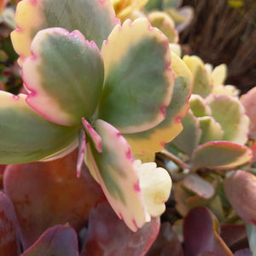
[{"label": "large foreground succulent rosette with green, cream and pink-edged leaves", "polygon": [[[136,153],[156,152],[181,131],[190,95],[189,80],[180,75],[184,64],[173,55],[177,88],[181,84],[185,96],[172,109],[174,75],[164,34],[146,19],[114,26],[118,22],[109,1],[67,1],[61,12],[60,4],[23,0],[18,5],[12,41],[29,93],[0,95],[0,161],[54,159],[73,150],[79,134],[78,170],[84,159],[119,218],[137,230],[156,213],[154,203],[148,212],[143,199],[150,189],[141,188],[137,172],[144,164],[134,162],[135,140],[129,136],[139,138]],[[67,12],[71,5],[76,15]],[[86,9],[88,22],[79,9]],[[170,127],[175,131],[166,135]],[[157,139],[160,131],[164,136]],[[145,135],[154,137],[149,147]],[[148,165],[153,172],[156,166]],[[154,175],[166,179],[166,193],[153,192],[160,195],[160,214],[172,182],[168,175]]]}]

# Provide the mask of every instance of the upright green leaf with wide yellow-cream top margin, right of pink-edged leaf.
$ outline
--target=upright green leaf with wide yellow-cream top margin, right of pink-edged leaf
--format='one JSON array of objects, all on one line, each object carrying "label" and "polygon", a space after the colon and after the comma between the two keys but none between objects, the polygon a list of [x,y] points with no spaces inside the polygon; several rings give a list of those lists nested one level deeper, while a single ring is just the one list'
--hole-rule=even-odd
[{"label": "upright green leaf with wide yellow-cream top margin, right of pink-edged leaf", "polygon": [[146,131],[166,117],[174,75],[168,40],[148,20],[125,20],[102,45],[105,79],[98,118],[121,133]]}]

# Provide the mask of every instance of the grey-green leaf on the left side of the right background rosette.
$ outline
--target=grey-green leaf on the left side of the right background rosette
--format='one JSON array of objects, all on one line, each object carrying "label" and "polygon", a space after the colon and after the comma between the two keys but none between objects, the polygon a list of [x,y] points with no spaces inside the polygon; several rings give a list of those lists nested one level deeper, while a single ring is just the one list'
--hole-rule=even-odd
[{"label": "grey-green leaf on the left side of the right background rosette", "polygon": [[172,140],[177,148],[191,155],[198,146],[201,139],[201,128],[199,119],[195,118],[191,110],[182,119],[183,131]]}]

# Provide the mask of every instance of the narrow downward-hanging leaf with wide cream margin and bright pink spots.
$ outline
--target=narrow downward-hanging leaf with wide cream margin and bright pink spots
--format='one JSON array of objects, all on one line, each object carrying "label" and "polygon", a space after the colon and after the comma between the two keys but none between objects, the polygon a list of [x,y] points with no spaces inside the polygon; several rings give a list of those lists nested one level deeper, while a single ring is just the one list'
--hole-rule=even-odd
[{"label": "narrow downward-hanging leaf with wide cream margin and bright pink spots", "polygon": [[131,230],[136,231],[145,224],[148,216],[131,148],[119,131],[107,122],[97,119],[95,127],[102,137],[102,153],[93,143],[87,143],[89,167],[93,168],[92,172],[96,174],[114,212]]}]

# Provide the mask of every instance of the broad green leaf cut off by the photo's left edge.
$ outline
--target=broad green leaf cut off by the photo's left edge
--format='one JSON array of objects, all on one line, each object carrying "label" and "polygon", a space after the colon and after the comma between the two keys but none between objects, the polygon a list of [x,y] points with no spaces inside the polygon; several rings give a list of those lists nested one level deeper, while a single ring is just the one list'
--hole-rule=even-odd
[{"label": "broad green leaf cut off by the photo's left edge", "polygon": [[49,122],[25,99],[26,95],[0,91],[0,164],[43,159],[66,148],[78,136],[78,128]]}]

